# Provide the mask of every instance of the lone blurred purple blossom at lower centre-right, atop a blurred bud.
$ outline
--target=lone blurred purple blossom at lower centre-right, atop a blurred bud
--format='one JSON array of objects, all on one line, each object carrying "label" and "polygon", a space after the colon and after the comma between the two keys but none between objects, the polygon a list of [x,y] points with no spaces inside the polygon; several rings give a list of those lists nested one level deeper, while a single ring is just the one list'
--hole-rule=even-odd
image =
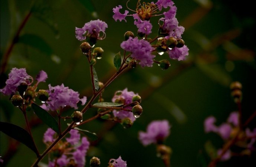
[{"label": "lone blurred purple blossom at lower centre-right, atop a blurred bud", "polygon": [[168,120],[152,121],[147,127],[147,132],[139,132],[139,139],[144,146],[162,143],[169,136],[170,128]]}]

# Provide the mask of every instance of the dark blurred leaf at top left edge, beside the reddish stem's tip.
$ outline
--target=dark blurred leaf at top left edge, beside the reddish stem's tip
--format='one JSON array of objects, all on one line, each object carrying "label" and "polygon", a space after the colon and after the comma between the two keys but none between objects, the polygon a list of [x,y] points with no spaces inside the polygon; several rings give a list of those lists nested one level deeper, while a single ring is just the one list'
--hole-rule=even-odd
[{"label": "dark blurred leaf at top left edge, beside the reddish stem's tip", "polygon": [[57,35],[59,33],[57,24],[54,21],[53,10],[50,7],[51,1],[49,0],[35,0],[31,12],[33,16],[46,23],[52,31]]}]

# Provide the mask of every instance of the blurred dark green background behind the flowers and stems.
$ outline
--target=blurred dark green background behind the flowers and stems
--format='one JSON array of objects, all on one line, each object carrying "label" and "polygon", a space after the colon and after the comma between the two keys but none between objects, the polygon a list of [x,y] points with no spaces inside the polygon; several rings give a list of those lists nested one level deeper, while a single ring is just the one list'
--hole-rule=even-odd
[{"label": "blurred dark green background behind the flowers and stems", "polygon": [[[105,40],[96,47],[104,49],[102,59],[95,65],[99,80],[106,80],[115,72],[114,55],[121,51],[120,43],[126,31],[137,32],[133,18],[127,23],[115,22],[112,8],[123,6],[126,0],[1,0],[0,47],[1,63],[20,24],[32,11],[16,39],[7,62],[6,71],[1,71],[1,88],[13,67],[26,68],[33,77],[40,70],[48,74],[39,89],[47,89],[64,83],[80,95],[91,97],[89,65],[80,51],[80,41],[75,38],[75,27],[83,27],[90,21],[100,19],[108,24]],[[129,8],[135,9],[137,1],[131,0]],[[164,167],[156,157],[155,146],[142,146],[138,131],[145,131],[152,120],[167,119],[171,134],[165,144],[173,150],[171,165],[174,167],[205,166],[210,161],[204,147],[211,141],[219,149],[223,141],[217,134],[205,134],[203,121],[213,115],[217,125],[225,122],[229,113],[237,110],[230,96],[229,84],[239,81],[243,84],[242,112],[246,120],[256,110],[256,64],[255,64],[255,9],[253,1],[232,0],[174,0],[177,19],[185,27],[182,35],[190,49],[186,61],[170,60],[171,67],[161,70],[156,64],[152,68],[130,69],[105,89],[103,98],[111,101],[115,91],[128,88],[142,96],[143,114],[129,129],[111,122],[95,120],[81,126],[82,129],[99,134],[101,140],[93,142],[86,157],[86,166],[92,156],[101,159],[101,166],[120,155],[128,167]],[[32,7],[33,6],[33,7]],[[130,11],[132,13],[132,11]],[[152,18],[152,34],[157,35],[157,18]],[[165,53],[157,60],[169,59]],[[2,68],[1,68],[2,69]],[[3,72],[3,73],[2,73]],[[1,121],[24,127],[24,118],[14,108],[9,97],[1,94]],[[82,108],[82,106],[79,106]],[[72,110],[63,115],[70,115]],[[90,109],[86,117],[95,115]],[[33,112],[29,117],[36,117]],[[69,121],[67,120],[66,123]],[[255,119],[249,126],[255,127]],[[32,133],[40,153],[45,150],[42,142],[47,126],[35,122]],[[65,123],[62,123],[64,129]],[[10,138],[1,133],[1,156],[10,150]],[[12,152],[12,151],[11,151]],[[255,155],[255,154],[254,154]],[[218,166],[249,166],[253,157],[234,157]],[[30,166],[36,160],[35,154],[23,144],[7,163],[8,167]],[[47,157],[43,159],[47,163]]]}]

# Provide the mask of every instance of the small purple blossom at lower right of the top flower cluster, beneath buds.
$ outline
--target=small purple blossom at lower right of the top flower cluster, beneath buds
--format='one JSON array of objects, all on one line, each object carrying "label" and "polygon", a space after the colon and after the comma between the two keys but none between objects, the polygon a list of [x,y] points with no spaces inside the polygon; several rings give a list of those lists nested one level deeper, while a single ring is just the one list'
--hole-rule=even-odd
[{"label": "small purple blossom at lower right of the top flower cluster, beneath buds", "polygon": [[172,50],[168,49],[169,57],[171,59],[178,59],[178,61],[186,59],[188,51],[189,49],[186,45],[184,45],[182,48],[175,47]]}]

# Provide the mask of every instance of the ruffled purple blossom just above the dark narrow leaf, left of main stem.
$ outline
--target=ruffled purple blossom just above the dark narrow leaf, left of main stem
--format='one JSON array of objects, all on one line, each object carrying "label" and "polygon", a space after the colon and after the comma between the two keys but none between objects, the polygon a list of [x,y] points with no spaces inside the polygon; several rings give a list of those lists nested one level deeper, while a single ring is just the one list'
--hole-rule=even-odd
[{"label": "ruffled purple blossom just above the dark narrow leaf, left of main stem", "polygon": [[79,98],[79,93],[69,89],[69,87],[65,87],[62,83],[61,85],[51,86],[50,84],[49,90],[49,100],[46,101],[46,105],[43,105],[42,108],[46,110],[57,110],[60,107],[70,106],[74,109],[77,109],[77,103],[79,101],[82,102],[82,105],[86,103],[86,96],[82,99]]}]

